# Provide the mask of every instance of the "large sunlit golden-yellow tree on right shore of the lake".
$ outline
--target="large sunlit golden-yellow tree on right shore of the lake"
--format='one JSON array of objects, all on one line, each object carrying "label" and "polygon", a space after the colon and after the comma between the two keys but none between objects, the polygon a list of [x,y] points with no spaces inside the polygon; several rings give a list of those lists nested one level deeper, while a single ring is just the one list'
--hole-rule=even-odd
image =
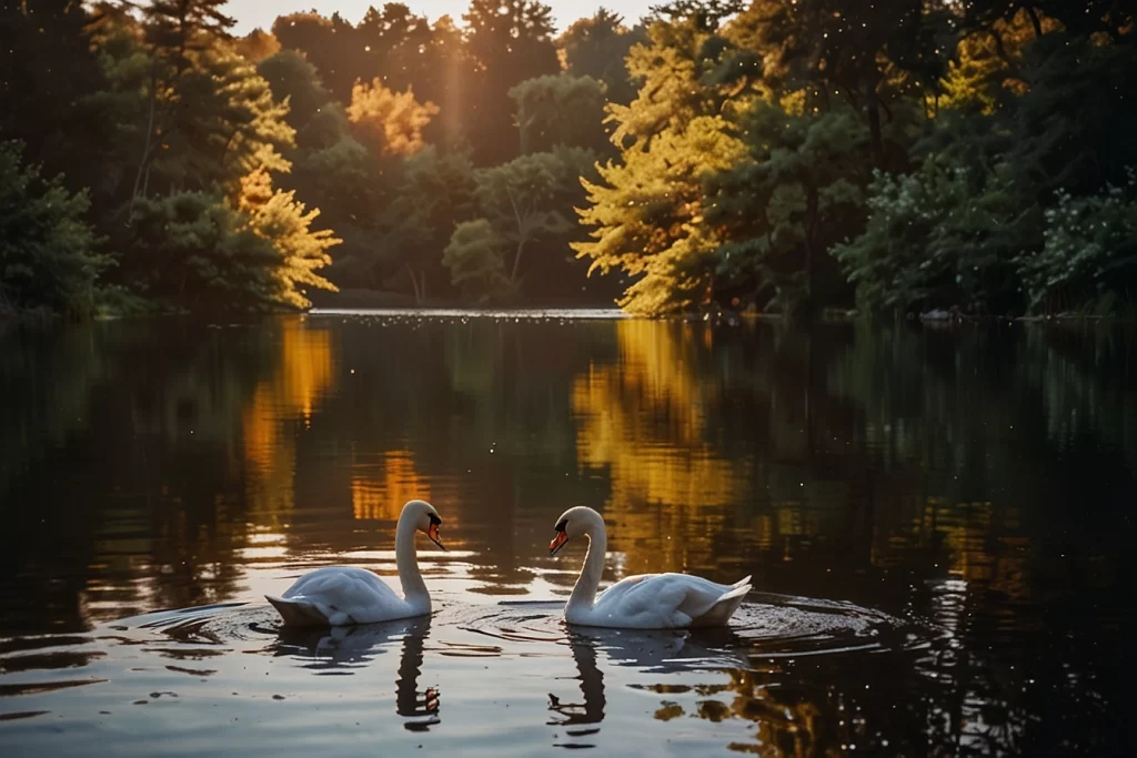
[{"label": "large sunlit golden-yellow tree on right shore of the lake", "polygon": [[591,259],[589,274],[619,269],[637,278],[619,300],[622,308],[659,315],[709,298],[722,241],[703,223],[703,183],[741,160],[745,145],[719,115],[725,91],[700,81],[719,64],[716,55],[704,56],[714,50],[713,35],[690,22],[661,22],[648,34],[650,44],[632,48],[628,58],[644,81],[639,97],[608,106],[621,161],[601,166],[600,182],[582,182],[588,206],[578,215],[596,228],[592,240],[572,248]]}]

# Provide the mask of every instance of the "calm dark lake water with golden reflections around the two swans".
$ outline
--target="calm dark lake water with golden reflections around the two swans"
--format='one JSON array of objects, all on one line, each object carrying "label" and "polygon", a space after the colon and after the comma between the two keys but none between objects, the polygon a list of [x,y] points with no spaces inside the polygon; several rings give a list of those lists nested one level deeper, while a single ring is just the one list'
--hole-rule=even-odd
[{"label": "calm dark lake water with golden reflections around the two swans", "polygon": [[[0,332],[0,752],[1131,755],[1137,338],[399,314]],[[348,563],[435,613],[282,633]],[[606,580],[729,630],[566,628]]]}]

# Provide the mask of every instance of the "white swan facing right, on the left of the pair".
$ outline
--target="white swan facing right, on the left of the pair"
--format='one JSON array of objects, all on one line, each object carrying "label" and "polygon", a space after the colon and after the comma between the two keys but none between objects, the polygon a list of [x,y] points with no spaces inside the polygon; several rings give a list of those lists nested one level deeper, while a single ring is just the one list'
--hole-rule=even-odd
[{"label": "white swan facing right, on the left of the pair", "polygon": [[418,570],[415,532],[425,533],[442,548],[438,536],[441,524],[434,506],[425,500],[402,506],[395,528],[395,563],[402,598],[372,572],[327,566],[298,578],[283,597],[266,594],[265,599],[280,611],[285,626],[348,626],[425,616],[430,614],[430,593]]}]

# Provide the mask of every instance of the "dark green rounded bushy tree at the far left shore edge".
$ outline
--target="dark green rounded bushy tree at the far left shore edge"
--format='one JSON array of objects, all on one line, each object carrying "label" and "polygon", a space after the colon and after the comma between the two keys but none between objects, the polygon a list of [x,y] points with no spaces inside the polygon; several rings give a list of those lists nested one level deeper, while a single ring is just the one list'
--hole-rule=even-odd
[{"label": "dark green rounded bushy tree at the far left shore edge", "polygon": [[86,192],[23,165],[23,143],[0,142],[0,309],[35,308],[89,316],[99,273],[111,259],[84,216]]}]

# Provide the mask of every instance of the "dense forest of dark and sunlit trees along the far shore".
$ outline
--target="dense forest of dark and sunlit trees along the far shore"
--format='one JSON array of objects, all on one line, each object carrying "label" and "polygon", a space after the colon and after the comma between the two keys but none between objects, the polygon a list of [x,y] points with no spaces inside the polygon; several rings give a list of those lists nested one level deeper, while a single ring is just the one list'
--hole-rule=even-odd
[{"label": "dense forest of dark and sunlit trees along the far shore", "polygon": [[223,0],[0,0],[0,314],[1131,316],[1134,23],[472,0],[242,38]]}]

